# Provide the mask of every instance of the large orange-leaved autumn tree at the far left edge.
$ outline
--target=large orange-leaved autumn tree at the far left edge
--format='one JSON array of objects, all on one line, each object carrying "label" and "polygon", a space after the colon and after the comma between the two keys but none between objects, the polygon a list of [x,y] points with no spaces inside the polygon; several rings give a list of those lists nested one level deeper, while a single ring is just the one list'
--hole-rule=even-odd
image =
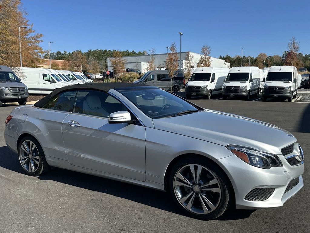
[{"label": "large orange-leaved autumn tree at the far left edge", "polygon": [[33,24],[25,18],[20,0],[0,0],[0,64],[19,67],[20,47],[18,27],[20,28],[22,64],[36,67],[44,53],[39,46],[42,34],[32,29]]}]

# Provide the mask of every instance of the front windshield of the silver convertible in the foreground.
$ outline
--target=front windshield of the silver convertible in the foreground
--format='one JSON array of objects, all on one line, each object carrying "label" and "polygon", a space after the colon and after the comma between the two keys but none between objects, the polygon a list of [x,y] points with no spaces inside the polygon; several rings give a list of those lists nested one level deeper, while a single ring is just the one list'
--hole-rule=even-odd
[{"label": "front windshield of the silver convertible in the foreground", "polygon": [[173,117],[203,111],[203,108],[196,107],[162,89],[123,90],[120,93],[150,118]]}]

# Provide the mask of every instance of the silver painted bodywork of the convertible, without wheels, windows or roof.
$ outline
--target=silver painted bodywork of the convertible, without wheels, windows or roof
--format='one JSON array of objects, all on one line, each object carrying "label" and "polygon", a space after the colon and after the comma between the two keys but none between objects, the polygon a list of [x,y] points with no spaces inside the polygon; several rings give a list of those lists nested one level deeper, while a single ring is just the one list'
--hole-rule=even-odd
[{"label": "silver painted bodywork of the convertible, without wheels, windows or roof", "polygon": [[[226,173],[235,192],[237,208],[281,206],[303,187],[304,165],[293,167],[281,154],[281,148],[297,141],[286,130],[211,110],[151,119],[121,93],[113,89],[109,93],[132,111],[141,126],[108,124],[104,117],[28,105],[12,111],[13,118],[5,126],[5,142],[17,153],[20,135],[30,134],[42,145],[51,166],[158,190],[165,189],[165,175],[171,161],[184,154],[197,154],[214,161]],[[69,126],[70,120],[78,122],[80,127]],[[228,144],[277,154],[283,166],[270,169],[251,166],[232,155],[225,147]],[[295,149],[294,153],[299,152]],[[285,192],[295,178],[299,183]],[[246,194],[258,187],[272,187],[275,191],[267,200],[246,201]]]}]

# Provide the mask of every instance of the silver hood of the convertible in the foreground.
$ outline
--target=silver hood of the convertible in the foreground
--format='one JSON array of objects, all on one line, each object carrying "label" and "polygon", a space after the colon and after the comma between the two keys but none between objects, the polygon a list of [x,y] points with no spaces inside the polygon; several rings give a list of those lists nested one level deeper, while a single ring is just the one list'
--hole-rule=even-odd
[{"label": "silver hood of the convertible in the foreground", "polygon": [[297,141],[288,131],[277,126],[212,110],[153,119],[153,124],[158,130],[223,146],[247,146],[274,154],[281,154],[281,148]]}]

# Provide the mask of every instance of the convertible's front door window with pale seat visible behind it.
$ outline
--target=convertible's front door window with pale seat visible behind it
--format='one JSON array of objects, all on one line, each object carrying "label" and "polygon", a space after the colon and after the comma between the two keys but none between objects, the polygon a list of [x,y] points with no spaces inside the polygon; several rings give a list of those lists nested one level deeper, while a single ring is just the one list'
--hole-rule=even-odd
[{"label": "convertible's front door window with pale seat visible behind it", "polygon": [[75,113],[97,117],[109,117],[113,112],[128,111],[116,98],[103,91],[79,90],[76,98]]}]

